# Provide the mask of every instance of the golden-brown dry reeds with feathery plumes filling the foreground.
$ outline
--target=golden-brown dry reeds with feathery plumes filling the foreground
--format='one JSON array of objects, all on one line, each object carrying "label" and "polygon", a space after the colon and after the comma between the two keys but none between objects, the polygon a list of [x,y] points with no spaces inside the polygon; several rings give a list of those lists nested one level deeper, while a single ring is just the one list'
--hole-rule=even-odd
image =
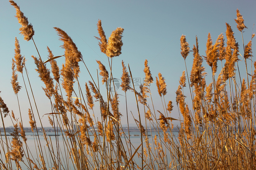
[{"label": "golden-brown dry reeds with feathery plumes filling the foreground", "polygon": [[[16,8],[16,17],[22,25],[20,28],[24,39],[33,40],[34,31],[27,18],[14,2],[10,3]],[[246,26],[243,17],[237,10],[237,28],[241,33]],[[99,75],[107,88],[100,90],[99,77],[92,77],[82,54],[77,49],[70,36],[60,28],[54,28],[63,41],[62,48],[65,54],[54,56],[47,47],[49,58],[43,62],[40,58],[32,56],[40,79],[44,82],[43,88],[49,98],[52,112],[47,114],[49,122],[55,131],[55,139],[47,137],[43,130],[44,140],[40,139],[39,117],[40,110],[33,95],[26,70],[25,57],[21,56],[18,40],[15,38],[15,56],[12,60],[11,84],[15,95],[21,90],[18,82],[18,72],[23,79],[23,87],[29,99],[29,123],[35,140],[33,155],[32,146],[28,146],[23,128],[21,111],[19,118],[10,111],[0,97],[0,113],[4,136],[1,136],[1,169],[256,169],[255,146],[255,93],[256,93],[256,62],[252,60],[252,39],[247,45],[241,45],[234,38],[234,33],[226,23],[226,46],[224,35],[220,34],[213,44],[209,33],[206,44],[206,55],[203,56],[210,66],[212,73],[206,80],[203,58],[199,54],[198,39],[193,45],[193,66],[190,72],[181,74],[176,91],[176,104],[180,117],[171,116],[172,101],[166,102],[167,94],[165,78],[161,73],[155,77],[162,106],[154,106],[150,91],[153,77],[149,70],[148,61],[145,61],[145,79],[136,91],[132,73],[122,61],[123,74],[121,77],[121,90],[125,100],[127,90],[134,92],[137,106],[127,106],[126,114],[119,111],[119,95],[113,84],[112,60],[121,54],[123,28],[116,28],[107,39],[98,21],[99,47],[106,54],[109,65],[99,64]],[[242,35],[243,36],[243,35]],[[252,38],[254,34],[252,35]],[[34,41],[34,40],[33,40]],[[35,43],[34,43],[35,44]],[[189,44],[185,35],[180,38],[181,55],[186,61],[190,53]],[[35,46],[36,47],[36,46]],[[241,55],[243,53],[243,55]],[[65,56],[65,64],[59,68],[55,59]],[[239,59],[240,58],[240,59]],[[223,62],[222,62],[223,61]],[[225,62],[224,62],[225,61]],[[244,61],[246,77],[241,78],[238,62]],[[51,70],[46,64],[51,64]],[[79,63],[86,67],[90,74],[88,82],[79,82]],[[248,71],[251,63],[251,70]],[[221,64],[218,76],[217,64]],[[186,66],[186,62],[185,62]],[[109,71],[107,71],[109,70]],[[24,72],[25,71],[25,72]],[[23,74],[25,73],[25,74]],[[97,72],[98,73],[98,72]],[[53,78],[52,78],[53,75]],[[189,77],[189,79],[187,79]],[[25,81],[26,79],[26,81]],[[28,82],[28,83],[26,83]],[[210,82],[207,84],[207,82]],[[82,84],[81,84],[82,83]],[[188,84],[188,86],[186,86]],[[78,87],[78,91],[74,90]],[[191,99],[187,99],[184,89],[189,88]],[[65,90],[65,92],[63,91]],[[112,90],[113,89],[113,90]],[[31,92],[31,93],[28,93]],[[107,95],[102,95],[102,94]],[[30,95],[31,94],[31,95]],[[66,96],[65,96],[66,95]],[[189,98],[189,97],[188,97]],[[143,107],[139,106],[142,105]],[[98,107],[101,116],[94,115]],[[129,107],[138,108],[139,120],[135,120],[141,133],[141,144],[134,146],[130,140],[128,115]],[[141,109],[143,108],[143,109]],[[19,109],[20,110],[20,109]],[[14,131],[10,139],[5,131],[4,119],[10,116]],[[121,124],[121,116],[127,116],[128,134]],[[145,119],[145,125],[142,125]],[[179,133],[175,136],[172,121],[179,121]],[[59,136],[61,134],[61,136]],[[93,137],[90,136],[93,134]],[[157,134],[157,135],[156,135]],[[122,137],[124,136],[124,137]],[[10,141],[10,140],[11,141]],[[62,141],[62,142],[60,142]],[[45,145],[45,146],[44,146]],[[64,150],[60,146],[64,145]]]}]

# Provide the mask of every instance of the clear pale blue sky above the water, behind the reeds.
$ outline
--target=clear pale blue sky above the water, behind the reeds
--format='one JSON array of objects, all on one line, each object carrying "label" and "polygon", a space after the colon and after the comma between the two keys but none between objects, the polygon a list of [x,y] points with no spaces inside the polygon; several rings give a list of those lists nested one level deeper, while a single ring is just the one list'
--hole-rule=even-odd
[{"label": "clear pale blue sky above the water, behind the reeds", "polygon": [[[54,56],[63,55],[64,49],[60,46],[63,42],[59,40],[59,36],[53,27],[64,30],[77,45],[78,50],[82,53],[83,59],[93,77],[97,77],[98,64],[96,60],[100,60],[110,71],[108,66],[108,58],[101,53],[98,46],[98,40],[94,36],[99,36],[97,32],[97,22],[102,21],[102,27],[108,38],[113,30],[117,27],[124,28],[122,54],[113,58],[113,77],[120,79],[122,74],[121,61],[123,60],[128,69],[130,66],[132,77],[137,80],[143,80],[145,74],[144,61],[148,60],[148,65],[154,79],[151,84],[152,101],[154,109],[163,112],[161,98],[158,95],[155,85],[155,77],[160,72],[165,78],[167,85],[167,94],[165,96],[166,104],[172,101],[174,110],[171,117],[183,119],[179,116],[178,108],[175,102],[176,90],[179,85],[179,77],[186,69],[184,59],[180,54],[180,37],[186,35],[190,48],[195,44],[195,37],[198,37],[199,54],[205,55],[207,35],[210,32],[213,42],[216,41],[219,34],[223,33],[226,39],[226,24],[229,23],[234,31],[235,39],[242,47],[241,32],[237,30],[235,18],[236,9],[240,10],[243,15],[244,23],[247,29],[244,30],[243,40],[247,44],[251,40],[253,29],[256,21],[255,6],[256,1],[151,1],[151,0],[130,0],[130,1],[82,1],[82,0],[62,0],[62,1],[32,1],[32,0],[16,0],[21,11],[32,24],[35,35],[33,39],[37,45],[38,51],[43,61],[47,60],[47,46],[51,49]],[[14,57],[15,37],[19,40],[21,55],[26,58],[26,67],[29,80],[38,105],[39,116],[43,125],[49,126],[48,117],[44,114],[51,112],[49,99],[45,96],[42,87],[45,87],[38,73],[35,71],[35,64],[31,57],[38,57],[35,46],[30,40],[24,40],[23,35],[19,34],[21,27],[15,18],[15,8],[10,5],[7,0],[2,0],[0,5],[0,96],[7,104],[9,110],[13,110],[15,117],[20,117],[17,96],[13,92],[11,86],[12,76],[12,58]],[[255,49],[255,43],[252,42],[252,51]],[[241,50],[242,51],[242,50]],[[241,52],[242,53],[242,52]],[[193,62],[193,53],[186,58],[188,74],[190,75]],[[241,59],[241,58],[240,58]],[[253,60],[255,61],[255,60]],[[58,58],[59,66],[64,63],[64,58]],[[221,63],[218,63],[219,68]],[[209,66],[204,61],[203,66],[206,72],[210,71]],[[50,69],[50,64],[47,63]],[[241,61],[241,67],[244,62]],[[81,73],[79,74],[80,84],[91,81],[91,78],[80,63]],[[217,74],[220,70],[217,71]],[[99,77],[101,79],[101,77]],[[211,82],[211,76],[206,76],[207,82]],[[21,116],[24,126],[28,123],[29,102],[22,76],[18,74],[18,81],[22,86],[18,93],[19,104],[21,108]],[[28,85],[25,77],[26,85]],[[188,83],[187,83],[188,84]],[[83,86],[84,87],[84,86]],[[100,89],[105,88],[104,85]],[[139,86],[135,88],[139,89]],[[83,89],[85,93],[85,88]],[[127,116],[125,107],[124,92],[117,90],[120,94],[119,109],[123,117],[121,123],[127,126]],[[189,96],[189,88],[184,91],[185,96]],[[187,94],[187,95],[186,95]],[[31,92],[29,91],[31,96]],[[138,111],[134,93],[127,92],[128,99],[128,117],[129,125],[135,125],[132,114],[138,119]],[[148,99],[152,108],[151,99]],[[188,99],[189,102],[189,99]],[[33,108],[35,107],[32,104]],[[98,103],[95,102],[98,106]],[[132,114],[131,114],[132,112]],[[144,112],[143,106],[140,105],[140,112]],[[95,109],[94,114],[99,116],[99,110]],[[20,120],[20,119],[19,119]],[[37,122],[38,118],[37,118]],[[5,126],[11,126],[10,118],[4,119]],[[173,122],[174,125],[179,122]],[[2,123],[0,123],[2,127]]]}]

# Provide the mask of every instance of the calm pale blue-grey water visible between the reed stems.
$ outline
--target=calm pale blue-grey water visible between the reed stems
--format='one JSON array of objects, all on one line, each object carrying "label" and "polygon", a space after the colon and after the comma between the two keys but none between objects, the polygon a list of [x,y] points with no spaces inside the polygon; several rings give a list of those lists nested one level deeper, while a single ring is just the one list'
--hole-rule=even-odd
[{"label": "calm pale blue-grey water visible between the reed stems", "polygon": [[[9,133],[7,133],[7,134],[9,134]],[[54,132],[48,132],[48,133],[46,133],[47,134],[47,138],[48,138],[48,140],[52,143],[52,146],[53,146],[53,151],[54,151],[54,153],[57,153],[57,149],[59,149],[60,150],[60,152],[61,152],[61,154],[63,155],[63,156],[60,156],[61,158],[58,158],[58,159],[62,159],[62,160],[65,160],[64,162],[67,162],[67,164],[64,166],[64,168],[63,167],[61,167],[60,169],[71,169],[71,170],[74,170],[74,167],[73,167],[73,164],[72,164],[72,162],[70,161],[70,159],[69,159],[69,154],[68,154],[68,151],[67,151],[67,148],[65,147],[65,145],[63,144],[63,142],[65,142],[66,140],[64,140],[63,141],[63,136],[61,135],[61,133],[59,132],[59,135],[60,136],[57,136],[57,141],[56,141],[56,138],[55,138],[55,133]],[[125,132],[125,134],[127,135],[127,137],[128,137],[128,131],[127,132]],[[178,135],[178,132],[177,131],[173,131],[173,134],[174,134],[174,136],[176,136],[176,138],[177,138],[177,135]],[[90,135],[90,139],[91,139],[91,141],[93,142],[94,141],[94,137],[93,137],[93,134],[89,134]],[[148,135],[149,135],[149,143],[153,143],[154,141],[154,136],[155,135],[157,135],[157,138],[159,138],[159,134],[155,134],[155,133],[153,133],[152,132],[152,136],[151,136],[151,133],[150,133],[150,131],[148,131]],[[161,133],[160,133],[160,135],[161,135]],[[162,135],[161,135],[162,136]],[[3,141],[5,141],[5,137],[4,136],[1,136],[2,137],[2,139],[3,139]],[[8,140],[12,140],[12,136],[7,136],[9,139]],[[45,142],[45,139],[44,139],[44,136],[43,136],[43,133],[39,133],[39,139],[40,139],[40,142],[41,142],[41,146],[40,145],[38,145],[38,142],[36,141],[36,138],[35,138],[35,136],[33,136],[33,133],[26,133],[26,137],[27,137],[27,145],[29,146],[28,147],[28,150],[29,150],[29,152],[30,152],[30,154],[29,154],[29,157],[30,157],[30,159],[32,159],[34,162],[37,162],[38,160],[40,160],[40,158],[39,158],[39,153],[38,153],[38,148],[42,148],[42,150],[43,150],[43,155],[44,155],[44,157],[45,157],[45,161],[46,162],[50,162],[50,160],[46,160],[46,156],[45,155],[47,155],[47,157],[48,158],[50,158],[50,154],[49,154],[49,151],[48,151],[48,148],[47,148],[47,146],[46,146],[46,142]],[[64,138],[65,138],[65,136],[64,136]],[[122,135],[121,136],[121,139],[122,139],[122,141],[123,141],[123,143],[125,144],[125,137],[124,137],[124,135]],[[103,140],[103,139],[102,139]],[[57,148],[56,146],[56,142],[59,144],[59,148]],[[141,134],[140,134],[140,131],[138,130],[138,131],[132,131],[132,132],[130,132],[130,142],[131,142],[131,144],[133,145],[133,147],[136,149],[136,148],[138,148],[138,146],[141,144]],[[24,142],[23,142],[24,143]],[[145,142],[143,142],[143,146],[146,146],[146,143]],[[24,150],[26,150],[26,147],[25,147],[25,144],[24,144]],[[35,149],[37,147],[37,150]],[[129,147],[129,144],[128,144],[128,147]],[[152,146],[153,147],[153,146]],[[127,151],[127,155],[128,155],[128,149],[127,149],[127,146],[126,145],[124,145],[124,148],[125,148],[125,150]],[[135,152],[135,149],[134,148],[132,148],[132,153],[134,153]],[[2,153],[2,155],[1,155],[1,157],[2,157],[2,160],[3,160],[3,162],[5,162],[5,159],[4,159],[4,152],[3,152],[3,148],[1,147],[1,153]],[[5,147],[5,152],[7,152],[6,151],[6,147]],[[138,152],[139,153],[141,153],[141,149],[139,149],[138,150]],[[52,153],[52,155],[54,155],[54,153]],[[31,155],[32,155],[32,158],[31,158]],[[56,154],[55,154],[56,155]],[[170,159],[170,156],[168,156],[169,154],[166,154],[167,155],[167,157],[166,157],[166,159]],[[27,154],[26,154],[26,156],[27,156]],[[135,159],[135,161],[137,162],[137,163],[139,163],[139,160],[138,160],[138,156],[137,155],[135,155],[135,157],[134,157],[134,159]],[[24,161],[25,161],[26,159],[24,158]],[[57,157],[56,157],[56,160],[57,160]],[[27,161],[25,161],[25,163],[26,164],[28,164],[28,162]],[[41,162],[40,162],[41,163]],[[22,169],[27,169],[27,167],[24,165],[24,163],[20,163],[21,164],[21,167],[22,167]],[[50,164],[51,164],[51,162],[50,162]],[[37,163],[37,165],[38,165],[38,163]],[[49,167],[48,167],[49,165],[47,165],[46,164],[46,167],[47,167],[47,169],[50,169]],[[13,168],[14,167],[16,167],[15,166],[15,164],[13,164]],[[51,166],[50,166],[51,167]],[[40,167],[39,167],[40,168]]]}]

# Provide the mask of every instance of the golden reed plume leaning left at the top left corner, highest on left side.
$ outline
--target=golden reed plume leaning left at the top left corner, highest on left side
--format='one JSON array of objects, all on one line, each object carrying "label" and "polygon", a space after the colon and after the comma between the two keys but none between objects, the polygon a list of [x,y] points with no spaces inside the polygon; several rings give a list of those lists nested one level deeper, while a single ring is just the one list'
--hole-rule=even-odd
[{"label": "golden reed plume leaning left at the top left corner, highest on left side", "polygon": [[20,34],[24,36],[24,39],[29,41],[32,36],[35,34],[35,31],[33,30],[33,26],[31,23],[29,24],[28,18],[26,18],[21,12],[20,7],[14,2],[14,1],[9,1],[13,7],[16,9],[16,18],[18,19],[18,22],[21,24],[20,28]]}]

